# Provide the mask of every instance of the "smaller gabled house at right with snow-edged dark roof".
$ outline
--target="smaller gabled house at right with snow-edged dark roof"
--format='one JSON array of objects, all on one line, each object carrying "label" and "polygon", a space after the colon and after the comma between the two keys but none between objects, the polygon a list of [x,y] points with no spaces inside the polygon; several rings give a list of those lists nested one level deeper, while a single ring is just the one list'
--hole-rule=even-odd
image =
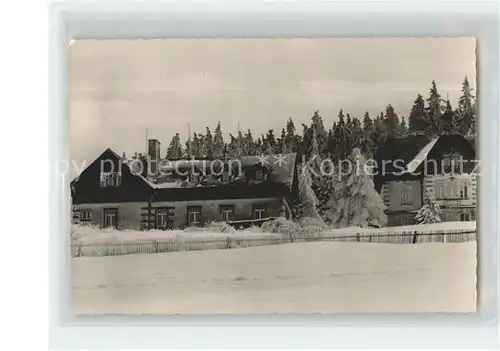
[{"label": "smaller gabled house at right with snow-edged dark roof", "polygon": [[475,220],[477,160],[470,139],[458,133],[391,138],[375,161],[388,225],[414,224],[425,197],[440,205],[443,221]]}]

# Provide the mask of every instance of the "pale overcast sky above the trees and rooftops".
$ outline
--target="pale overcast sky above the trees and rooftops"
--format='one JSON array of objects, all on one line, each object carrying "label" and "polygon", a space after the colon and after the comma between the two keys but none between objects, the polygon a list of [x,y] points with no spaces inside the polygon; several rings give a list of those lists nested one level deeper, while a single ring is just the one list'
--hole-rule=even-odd
[{"label": "pale overcast sky above the trees and rooftops", "polygon": [[69,52],[71,152],[144,152],[146,128],[162,142],[175,132],[254,137],[288,117],[301,133],[319,110],[327,128],[339,109],[375,115],[392,104],[408,116],[434,79],[452,105],[465,76],[475,87],[475,42],[441,39],[77,40]]}]

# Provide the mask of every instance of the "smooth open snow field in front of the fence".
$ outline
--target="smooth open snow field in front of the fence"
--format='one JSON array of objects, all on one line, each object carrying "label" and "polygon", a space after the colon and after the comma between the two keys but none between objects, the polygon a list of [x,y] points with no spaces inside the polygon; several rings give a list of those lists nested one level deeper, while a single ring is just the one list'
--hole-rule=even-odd
[{"label": "smooth open snow field in front of the fence", "polygon": [[79,257],[79,314],[471,312],[476,243],[311,242]]}]

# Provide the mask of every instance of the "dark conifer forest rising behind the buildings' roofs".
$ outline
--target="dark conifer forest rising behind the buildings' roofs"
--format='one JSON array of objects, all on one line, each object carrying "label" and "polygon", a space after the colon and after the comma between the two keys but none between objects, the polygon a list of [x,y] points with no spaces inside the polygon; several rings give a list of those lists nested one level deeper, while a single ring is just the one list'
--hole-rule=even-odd
[{"label": "dark conifer forest rising behind the buildings' roofs", "polygon": [[[418,94],[411,108],[410,115],[399,117],[391,105],[387,105],[379,115],[363,117],[351,116],[340,110],[338,119],[331,127],[325,127],[320,111],[315,111],[310,125],[297,126],[289,118],[281,131],[269,129],[265,135],[255,136],[248,129],[230,134],[230,140],[224,140],[220,122],[212,130],[194,133],[191,139],[181,141],[176,133],[170,142],[166,158],[220,159],[243,155],[284,154],[295,152],[309,156],[319,153],[332,160],[345,159],[354,148],[358,148],[366,157],[371,157],[387,138],[395,138],[415,133],[430,137],[443,133],[475,134],[476,97],[467,77],[462,83],[462,94],[456,106],[441,97],[435,81],[432,81],[429,94],[424,98]],[[134,158],[142,155],[134,155]]]}]

